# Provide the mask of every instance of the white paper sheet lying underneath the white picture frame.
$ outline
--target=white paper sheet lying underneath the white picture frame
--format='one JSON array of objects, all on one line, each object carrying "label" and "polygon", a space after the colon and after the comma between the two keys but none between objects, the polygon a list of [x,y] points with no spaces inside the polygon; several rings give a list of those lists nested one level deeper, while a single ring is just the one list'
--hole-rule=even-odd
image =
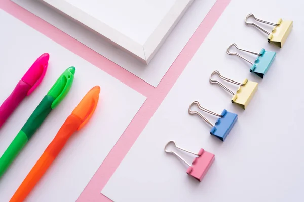
[{"label": "white paper sheet lying underneath the white picture frame", "polygon": [[[102,41],[100,37],[36,0],[13,0],[89,48],[156,87],[216,0],[196,0],[186,11],[148,66]],[[75,1],[75,0],[73,0]],[[140,8],[139,8],[140,9]]]}]

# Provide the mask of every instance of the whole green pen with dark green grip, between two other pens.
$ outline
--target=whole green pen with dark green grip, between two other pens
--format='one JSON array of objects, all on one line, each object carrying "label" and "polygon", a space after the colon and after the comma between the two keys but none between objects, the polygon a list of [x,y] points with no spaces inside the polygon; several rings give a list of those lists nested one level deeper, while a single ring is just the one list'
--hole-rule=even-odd
[{"label": "whole green pen with dark green grip, between two other pens", "polygon": [[27,122],[0,158],[0,177],[4,174],[28,140],[33,136],[35,131],[40,127],[52,109],[64,99],[72,86],[74,74],[75,67],[67,68],[27,119]]}]

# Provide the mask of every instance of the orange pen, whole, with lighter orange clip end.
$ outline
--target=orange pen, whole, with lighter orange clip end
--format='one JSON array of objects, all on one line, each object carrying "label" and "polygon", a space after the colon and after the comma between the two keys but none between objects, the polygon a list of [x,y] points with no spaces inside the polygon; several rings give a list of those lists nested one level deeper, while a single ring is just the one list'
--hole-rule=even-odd
[{"label": "orange pen, whole, with lighter orange clip end", "polygon": [[96,109],[99,93],[100,87],[93,87],[72,111],[71,115],[67,117],[53,141],[49,144],[11,198],[11,202],[20,202],[27,197],[40,178],[45,174],[49,166],[53,163],[69,137],[88,122]]}]

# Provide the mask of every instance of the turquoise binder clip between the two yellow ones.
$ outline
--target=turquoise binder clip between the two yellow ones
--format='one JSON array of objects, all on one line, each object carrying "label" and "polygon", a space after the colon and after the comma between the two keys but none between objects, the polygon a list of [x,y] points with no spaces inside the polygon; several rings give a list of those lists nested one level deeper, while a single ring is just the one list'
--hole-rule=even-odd
[{"label": "turquoise binder clip between the two yellow ones", "polygon": [[[241,56],[240,54],[230,52],[229,49],[232,46],[235,46],[238,50],[257,55],[257,58],[254,61],[254,64],[251,61],[249,61],[248,59],[246,59],[245,57]],[[244,49],[240,49],[236,44],[232,44],[227,48],[227,54],[237,55],[240,58],[249,62],[252,65],[249,71],[255,73],[256,75],[258,75],[261,78],[264,78],[264,75],[267,73],[269,67],[271,66],[271,64],[273,63],[273,61],[276,57],[276,52],[273,52],[273,51],[265,51],[265,49],[262,49],[260,51],[260,53],[255,53],[255,52],[247,51]]]}]

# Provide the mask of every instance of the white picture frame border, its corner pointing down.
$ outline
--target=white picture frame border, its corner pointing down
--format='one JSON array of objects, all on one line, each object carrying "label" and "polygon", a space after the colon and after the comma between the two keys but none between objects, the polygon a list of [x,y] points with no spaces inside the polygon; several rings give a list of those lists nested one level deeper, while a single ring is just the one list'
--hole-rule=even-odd
[{"label": "white picture frame border, its corner pointing down", "polygon": [[75,7],[67,0],[40,1],[54,8],[61,14],[68,16],[72,20],[79,22],[90,30],[93,30],[112,45],[129,53],[147,65],[194,0],[176,0],[174,5],[169,9],[169,12],[143,45],[93,17],[89,13]]}]

